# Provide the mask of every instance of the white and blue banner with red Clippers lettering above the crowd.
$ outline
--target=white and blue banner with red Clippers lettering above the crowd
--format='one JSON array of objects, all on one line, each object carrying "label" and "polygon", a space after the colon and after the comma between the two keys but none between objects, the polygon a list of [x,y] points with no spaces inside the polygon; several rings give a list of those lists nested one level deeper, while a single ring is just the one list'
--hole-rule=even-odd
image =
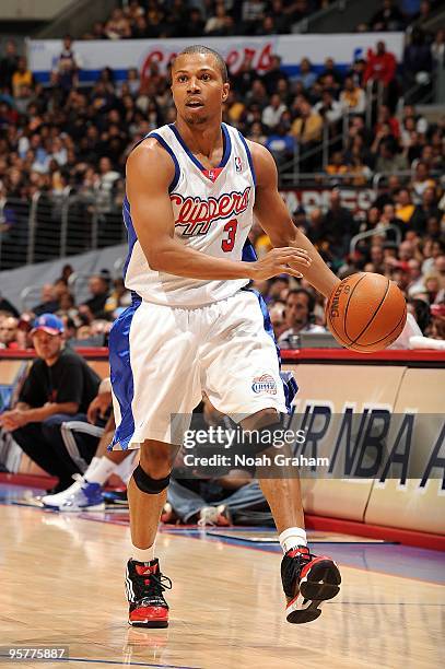
[{"label": "white and blue banner with red Clippers lettering above the crowd", "polygon": [[[206,37],[200,39],[120,39],[117,42],[74,42],[73,50],[81,63],[81,81],[95,81],[104,68],[114,71],[117,81],[127,78],[130,68],[141,75],[157,62],[162,72],[181,49],[190,44],[204,43],[224,56],[234,74],[246,56],[253,58],[254,68],[261,74],[270,66],[272,55],[282,58],[282,68],[288,74],[296,74],[302,58],[308,58],[315,71],[323,68],[331,57],[339,68],[346,68],[355,58],[366,58],[370,49],[383,40],[386,49],[400,62],[403,52],[403,33],[347,33],[337,35],[277,35],[264,37]],[[323,48],[320,48],[323,44]],[[28,64],[36,79],[49,82],[62,48],[60,39],[30,39],[27,42]]]}]

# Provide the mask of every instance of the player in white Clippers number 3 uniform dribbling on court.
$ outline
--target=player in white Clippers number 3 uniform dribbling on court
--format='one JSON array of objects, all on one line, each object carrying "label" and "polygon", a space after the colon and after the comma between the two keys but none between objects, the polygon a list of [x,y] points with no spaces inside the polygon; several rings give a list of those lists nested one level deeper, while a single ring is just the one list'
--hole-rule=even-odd
[{"label": "player in white Clippers number 3 uniform dribbling on court", "polygon": [[[172,414],[190,414],[204,391],[219,411],[246,416],[242,427],[261,434],[288,411],[267,309],[246,285],[304,272],[328,296],[338,283],[293,225],[270,153],[221,122],[229,89],[219,54],[185,49],[172,68],[177,121],[151,132],[127,161],[125,283],[133,303],[113,327],[109,353],[113,447],[140,446],[128,486],[126,574],[129,623],[137,626],[168,624],[164,590],[172,583],[154,541],[179,427],[187,429],[180,421],[175,429]],[[261,260],[247,242],[254,214],[274,247]],[[265,478],[260,485],[284,552],[286,620],[314,620],[320,601],[338,592],[339,571],[307,549],[300,481]]]}]

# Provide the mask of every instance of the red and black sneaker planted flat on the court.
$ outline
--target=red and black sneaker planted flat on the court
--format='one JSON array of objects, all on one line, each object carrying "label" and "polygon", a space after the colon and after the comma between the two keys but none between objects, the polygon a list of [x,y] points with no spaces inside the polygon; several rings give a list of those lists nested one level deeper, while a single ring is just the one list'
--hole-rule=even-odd
[{"label": "red and black sneaker planted flat on the court", "polygon": [[164,590],[172,588],[169,578],[161,574],[159,560],[129,560],[125,587],[130,611],[128,623],[134,627],[167,627],[168,605]]}]

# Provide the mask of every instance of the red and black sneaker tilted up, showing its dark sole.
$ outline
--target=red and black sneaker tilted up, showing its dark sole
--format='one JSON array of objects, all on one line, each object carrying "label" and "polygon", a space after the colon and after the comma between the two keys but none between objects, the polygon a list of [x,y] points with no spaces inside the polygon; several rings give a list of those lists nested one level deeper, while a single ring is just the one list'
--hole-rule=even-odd
[{"label": "red and black sneaker tilted up, showing its dark sole", "polygon": [[320,615],[320,606],[340,590],[341,576],[330,558],[316,558],[308,548],[288,551],[281,562],[281,580],[286,597],[285,617],[291,623],[305,623]]}]

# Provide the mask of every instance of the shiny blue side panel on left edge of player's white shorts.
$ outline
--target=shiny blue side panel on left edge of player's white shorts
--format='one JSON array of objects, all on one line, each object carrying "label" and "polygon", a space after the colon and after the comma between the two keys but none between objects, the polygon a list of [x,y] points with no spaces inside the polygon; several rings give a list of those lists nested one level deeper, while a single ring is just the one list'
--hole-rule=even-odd
[{"label": "shiny blue side panel on left edge of player's white shorts", "polygon": [[134,416],[131,402],[134,396],[133,373],[130,360],[130,328],[133,316],[142,300],[136,293],[133,302],[113,324],[109,332],[109,366],[113,392],[119,402],[121,420],[108,449],[119,444],[127,450],[128,444],[134,434]]}]

